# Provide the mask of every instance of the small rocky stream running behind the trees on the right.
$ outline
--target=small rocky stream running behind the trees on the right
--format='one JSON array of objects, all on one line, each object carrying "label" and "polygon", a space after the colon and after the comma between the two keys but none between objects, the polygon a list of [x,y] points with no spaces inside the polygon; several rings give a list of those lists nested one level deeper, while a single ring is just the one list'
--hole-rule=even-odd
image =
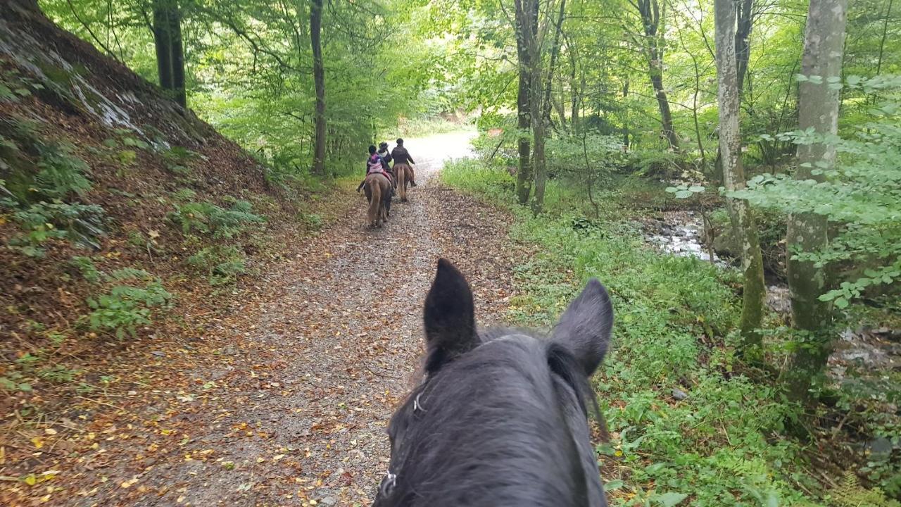
[{"label": "small rocky stream running behind the trees on the right", "polygon": [[[695,257],[710,262],[710,254],[703,241],[704,221],[694,211],[664,211],[660,217],[642,223],[647,242],[664,253],[681,257]],[[713,254],[714,264],[722,269],[734,269],[733,260]],[[785,284],[767,287],[767,305],[788,321],[791,303]],[[901,330],[886,327],[846,329],[835,340],[833,355],[829,357],[830,376],[842,382],[849,370],[855,374],[866,372],[901,371]]]}]

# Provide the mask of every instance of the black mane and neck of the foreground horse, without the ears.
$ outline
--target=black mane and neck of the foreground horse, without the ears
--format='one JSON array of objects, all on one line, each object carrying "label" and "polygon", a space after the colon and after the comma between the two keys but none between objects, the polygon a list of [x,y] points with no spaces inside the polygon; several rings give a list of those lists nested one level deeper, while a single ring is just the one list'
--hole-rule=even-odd
[{"label": "black mane and neck of the foreground horse, without the ears", "polygon": [[589,477],[599,484],[587,428],[599,411],[575,356],[519,330],[480,338],[396,411],[375,505],[605,505]]}]

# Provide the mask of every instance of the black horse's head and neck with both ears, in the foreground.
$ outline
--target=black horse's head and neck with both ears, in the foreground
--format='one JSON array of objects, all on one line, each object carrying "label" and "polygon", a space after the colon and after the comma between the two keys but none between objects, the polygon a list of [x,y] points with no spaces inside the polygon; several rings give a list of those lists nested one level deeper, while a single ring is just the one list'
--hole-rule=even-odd
[{"label": "black horse's head and neck with both ears, in the foreground", "polygon": [[424,310],[425,380],[388,428],[391,463],[375,505],[606,505],[587,414],[613,307],[588,282],[550,339],[479,336],[469,283],[441,259]]}]

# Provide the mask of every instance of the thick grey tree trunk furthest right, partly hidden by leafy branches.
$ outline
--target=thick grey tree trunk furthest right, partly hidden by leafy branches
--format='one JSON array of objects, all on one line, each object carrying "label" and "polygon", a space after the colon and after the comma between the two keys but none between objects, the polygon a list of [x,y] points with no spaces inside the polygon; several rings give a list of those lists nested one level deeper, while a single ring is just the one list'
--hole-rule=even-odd
[{"label": "thick grey tree trunk furthest right, partly hidden by leafy branches", "polygon": [[[798,85],[798,126],[803,131],[813,128],[818,134],[838,131],[839,90],[831,89],[828,78],[842,72],[845,23],[848,0],[810,0],[804,36],[801,74],[820,76]],[[825,143],[802,144],[797,149],[796,180],[822,181],[822,173],[814,174],[814,164],[828,171],[835,164],[835,147]],[[787,250],[815,252],[828,242],[826,217],[814,213],[796,213],[788,217]],[[829,358],[832,336],[832,307],[819,300],[827,289],[824,267],[812,262],[788,259],[788,288],[791,291],[792,317],[795,327],[805,331],[808,342],[797,348],[788,367],[787,388],[794,401],[811,401],[811,381],[822,373]]]}]

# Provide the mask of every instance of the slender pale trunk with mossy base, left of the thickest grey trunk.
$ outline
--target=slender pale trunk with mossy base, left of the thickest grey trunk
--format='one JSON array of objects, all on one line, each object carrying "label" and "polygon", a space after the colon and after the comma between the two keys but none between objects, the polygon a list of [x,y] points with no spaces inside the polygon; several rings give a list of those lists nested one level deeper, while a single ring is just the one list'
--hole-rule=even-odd
[{"label": "slender pale trunk with mossy base, left of the thickest grey trunk", "polygon": [[[739,122],[739,80],[735,58],[735,5],[733,0],[714,0],[716,28],[716,76],[719,80],[717,99],[720,116],[720,161],[726,191],[745,187],[742,167],[742,134]],[[758,361],[760,355],[760,321],[763,318],[763,259],[760,238],[748,202],[726,198],[733,234],[742,245],[742,355]]]}]

